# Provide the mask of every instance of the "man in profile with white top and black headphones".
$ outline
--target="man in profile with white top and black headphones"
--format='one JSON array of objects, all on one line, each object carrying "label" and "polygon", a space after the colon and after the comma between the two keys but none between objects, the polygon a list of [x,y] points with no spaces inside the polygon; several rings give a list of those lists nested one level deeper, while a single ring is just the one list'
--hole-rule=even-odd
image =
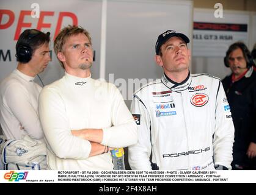
[{"label": "man in profile with white top and black headphones", "polygon": [[[34,79],[51,60],[49,41],[49,32],[24,30],[16,43],[18,66],[0,84],[0,123],[4,136],[10,140],[2,152],[5,169],[31,169],[32,161],[27,161],[31,156],[34,163],[45,160],[43,130],[37,111],[42,87]],[[37,155],[42,157],[35,158]]]}]

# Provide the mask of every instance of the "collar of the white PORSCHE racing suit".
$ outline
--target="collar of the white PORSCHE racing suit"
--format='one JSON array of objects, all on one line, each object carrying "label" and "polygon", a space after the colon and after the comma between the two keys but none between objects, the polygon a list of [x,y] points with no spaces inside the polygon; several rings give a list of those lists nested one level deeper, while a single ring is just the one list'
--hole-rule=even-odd
[{"label": "collar of the white PORSCHE racing suit", "polygon": [[192,80],[191,80],[190,72],[188,73],[188,76],[186,77],[186,79],[180,83],[174,82],[172,79],[167,77],[166,74],[163,74],[163,76],[161,78],[161,82],[163,82],[164,85],[166,85],[166,87],[170,88],[170,90],[172,90],[172,91],[186,90],[189,87],[189,85],[191,84],[191,81]]}]

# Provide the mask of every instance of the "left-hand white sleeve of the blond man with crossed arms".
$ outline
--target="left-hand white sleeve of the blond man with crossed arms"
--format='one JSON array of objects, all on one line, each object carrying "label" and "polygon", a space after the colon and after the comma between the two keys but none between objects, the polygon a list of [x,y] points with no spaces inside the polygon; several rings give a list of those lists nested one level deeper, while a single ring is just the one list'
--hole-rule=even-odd
[{"label": "left-hand white sleeve of the blond man with crossed arms", "polygon": [[38,111],[45,138],[59,158],[88,158],[91,144],[71,134],[65,104],[53,88],[43,88],[39,96]]}]

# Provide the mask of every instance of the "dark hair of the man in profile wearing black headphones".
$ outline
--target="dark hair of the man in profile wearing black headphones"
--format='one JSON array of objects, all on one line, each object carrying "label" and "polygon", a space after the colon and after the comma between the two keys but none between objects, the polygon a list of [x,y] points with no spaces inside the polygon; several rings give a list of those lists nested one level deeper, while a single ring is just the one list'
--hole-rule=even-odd
[{"label": "dark hair of the man in profile wearing black headphones", "polygon": [[[32,49],[32,54],[42,44],[49,43],[49,32],[43,33],[37,29],[26,29],[21,33],[16,43],[16,54],[18,54],[19,48],[26,46]],[[20,62],[20,60],[17,58]]]}]

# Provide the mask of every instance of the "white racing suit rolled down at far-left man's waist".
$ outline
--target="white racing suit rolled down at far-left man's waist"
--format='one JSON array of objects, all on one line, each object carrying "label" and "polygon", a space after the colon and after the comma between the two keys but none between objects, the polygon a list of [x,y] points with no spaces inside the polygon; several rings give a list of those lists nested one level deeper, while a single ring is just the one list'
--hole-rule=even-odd
[{"label": "white racing suit rolled down at far-left man's waist", "polygon": [[43,140],[34,140],[29,135],[22,140],[4,140],[1,137],[0,146],[5,170],[48,169]]}]

